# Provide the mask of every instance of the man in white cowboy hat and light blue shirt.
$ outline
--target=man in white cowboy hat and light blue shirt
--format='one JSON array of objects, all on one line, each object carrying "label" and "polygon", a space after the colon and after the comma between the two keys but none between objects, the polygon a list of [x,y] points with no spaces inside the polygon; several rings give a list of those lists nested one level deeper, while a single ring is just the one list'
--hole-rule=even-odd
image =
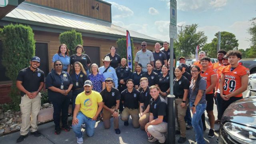
[{"label": "man in white cowboy hat and light blue shirt", "polygon": [[104,66],[99,68],[99,72],[104,75],[105,79],[112,78],[114,81],[114,87],[117,88],[118,87],[118,78],[116,76],[116,70],[109,65],[110,61],[111,61],[110,57],[106,56],[104,58],[104,60],[102,59],[102,61],[104,62]]}]

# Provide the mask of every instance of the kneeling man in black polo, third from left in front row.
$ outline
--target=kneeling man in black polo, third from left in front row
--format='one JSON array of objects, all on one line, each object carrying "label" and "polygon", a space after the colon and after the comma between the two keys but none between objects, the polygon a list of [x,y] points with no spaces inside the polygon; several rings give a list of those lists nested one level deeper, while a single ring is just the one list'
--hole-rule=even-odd
[{"label": "kneeling man in black polo, third from left in front row", "polygon": [[121,101],[124,104],[124,110],[121,114],[121,120],[124,121],[124,126],[128,126],[129,116],[132,117],[132,126],[134,128],[140,127],[139,124],[139,101],[140,92],[134,87],[132,79],[126,81],[127,89],[121,92]]}]

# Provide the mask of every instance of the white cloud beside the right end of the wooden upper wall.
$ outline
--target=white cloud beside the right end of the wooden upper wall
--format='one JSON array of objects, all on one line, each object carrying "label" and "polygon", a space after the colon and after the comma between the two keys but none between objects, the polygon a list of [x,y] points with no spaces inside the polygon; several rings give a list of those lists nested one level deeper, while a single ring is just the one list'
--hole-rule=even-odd
[{"label": "white cloud beside the right end of the wooden upper wall", "polygon": [[125,18],[128,16],[132,16],[134,14],[134,12],[126,6],[117,4],[115,2],[109,2],[109,3],[112,4],[112,10],[117,11],[116,15],[114,15],[113,18]]}]

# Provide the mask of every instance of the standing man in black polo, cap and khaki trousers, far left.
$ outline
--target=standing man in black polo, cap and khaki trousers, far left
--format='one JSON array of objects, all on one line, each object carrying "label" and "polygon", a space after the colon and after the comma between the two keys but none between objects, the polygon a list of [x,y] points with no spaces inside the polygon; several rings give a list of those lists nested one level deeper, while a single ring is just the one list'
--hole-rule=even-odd
[{"label": "standing man in black polo, cap and khaki trousers, far left", "polygon": [[40,58],[35,56],[31,59],[30,66],[20,70],[17,76],[16,86],[22,96],[20,103],[22,126],[20,137],[16,142],[22,142],[28,136],[30,126],[32,135],[36,137],[41,135],[37,130],[37,115],[41,108],[40,91],[44,86],[44,72],[38,66],[40,66]]}]

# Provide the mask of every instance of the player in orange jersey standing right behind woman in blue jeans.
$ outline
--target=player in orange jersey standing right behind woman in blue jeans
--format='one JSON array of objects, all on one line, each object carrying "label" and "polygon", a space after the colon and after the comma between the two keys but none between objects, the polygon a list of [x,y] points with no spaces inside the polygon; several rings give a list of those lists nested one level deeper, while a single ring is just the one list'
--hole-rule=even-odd
[{"label": "player in orange jersey standing right behind woman in blue jeans", "polygon": [[[207,102],[206,112],[210,121],[210,130],[208,133],[208,137],[213,138],[214,137],[214,120],[215,120],[214,114],[213,114],[213,105],[214,105],[213,89],[215,88],[217,83],[217,74],[212,70],[212,68],[209,68],[210,61],[211,59],[208,57],[201,58],[202,68],[201,68],[200,76],[202,76],[202,78],[204,78],[204,80],[206,81],[206,91],[205,91],[205,94],[206,94],[205,97]],[[204,114],[202,114],[202,122],[205,130],[206,126],[205,126]]]}]

